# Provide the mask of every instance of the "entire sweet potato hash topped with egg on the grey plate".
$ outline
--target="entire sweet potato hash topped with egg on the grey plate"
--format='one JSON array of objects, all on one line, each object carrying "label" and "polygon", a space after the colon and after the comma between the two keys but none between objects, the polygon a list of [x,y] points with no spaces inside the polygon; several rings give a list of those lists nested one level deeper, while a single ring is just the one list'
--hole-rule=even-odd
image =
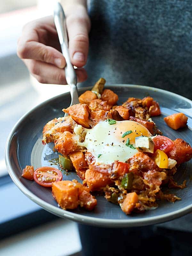
[{"label": "entire sweet potato hash topped with egg on the grey plate", "polygon": [[[180,200],[165,194],[162,187],[185,188],[174,181],[177,167],[192,158],[188,142],[162,135],[153,122],[161,115],[159,104],[150,96],[128,98],[116,105],[118,95],[104,89],[100,78],[92,90],[79,97],[79,104],[62,109],[67,116],[54,118],[43,128],[43,144],[53,142],[60,168],[76,171],[77,180],[62,180],[57,168],[26,166],[22,176],[52,187],[59,206],[66,209],[97,205],[94,191],[121,207],[125,214],[155,209],[159,200]],[[172,129],[187,125],[187,116],[176,113],[164,118]]]}]

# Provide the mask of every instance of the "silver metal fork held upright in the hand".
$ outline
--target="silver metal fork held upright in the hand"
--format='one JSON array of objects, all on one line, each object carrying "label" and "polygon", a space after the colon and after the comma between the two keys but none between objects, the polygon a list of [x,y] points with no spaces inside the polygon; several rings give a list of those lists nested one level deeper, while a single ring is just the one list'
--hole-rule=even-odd
[{"label": "silver metal fork held upright in the hand", "polygon": [[[59,36],[61,51],[66,60],[65,77],[67,83],[70,85],[71,105],[78,104],[77,94],[77,76],[74,67],[71,64],[68,51],[68,34],[65,22],[65,14],[60,3],[55,4],[54,8],[54,22]],[[66,114],[65,114],[66,116]]]}]

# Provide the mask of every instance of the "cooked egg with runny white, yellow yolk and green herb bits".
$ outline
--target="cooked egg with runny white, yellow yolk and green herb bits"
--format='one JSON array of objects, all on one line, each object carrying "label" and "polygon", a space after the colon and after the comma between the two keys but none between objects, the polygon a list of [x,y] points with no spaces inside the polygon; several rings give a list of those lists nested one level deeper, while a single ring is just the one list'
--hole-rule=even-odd
[{"label": "cooked egg with runny white, yellow yolk and green herb bits", "polygon": [[142,135],[152,136],[142,124],[126,120],[110,124],[106,120],[87,130],[83,146],[95,157],[96,164],[111,164],[115,160],[125,162],[138,152],[135,138]]}]

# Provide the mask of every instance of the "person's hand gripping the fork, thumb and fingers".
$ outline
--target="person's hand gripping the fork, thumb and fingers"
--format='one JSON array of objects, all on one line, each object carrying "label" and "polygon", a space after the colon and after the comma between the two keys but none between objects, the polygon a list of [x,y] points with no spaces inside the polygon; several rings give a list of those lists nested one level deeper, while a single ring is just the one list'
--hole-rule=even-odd
[{"label": "person's hand gripping the fork, thumb and fingers", "polygon": [[[77,8],[73,13],[68,12],[66,25],[71,63],[77,67],[77,81],[83,82],[87,78],[82,67],[87,61],[90,30],[86,10],[78,11]],[[31,21],[24,26],[18,41],[17,54],[40,83],[67,84],[64,71],[66,62],[60,51],[52,16]]]}]

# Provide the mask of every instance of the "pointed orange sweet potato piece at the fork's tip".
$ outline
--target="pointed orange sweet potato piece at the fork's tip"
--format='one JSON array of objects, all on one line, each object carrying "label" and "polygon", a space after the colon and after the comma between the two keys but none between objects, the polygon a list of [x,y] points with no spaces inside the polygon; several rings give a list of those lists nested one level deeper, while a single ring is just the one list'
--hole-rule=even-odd
[{"label": "pointed orange sweet potato piece at the fork's tip", "polygon": [[90,128],[88,105],[76,104],[66,109],[63,108],[62,111],[68,113],[77,124],[81,124],[85,128]]}]

